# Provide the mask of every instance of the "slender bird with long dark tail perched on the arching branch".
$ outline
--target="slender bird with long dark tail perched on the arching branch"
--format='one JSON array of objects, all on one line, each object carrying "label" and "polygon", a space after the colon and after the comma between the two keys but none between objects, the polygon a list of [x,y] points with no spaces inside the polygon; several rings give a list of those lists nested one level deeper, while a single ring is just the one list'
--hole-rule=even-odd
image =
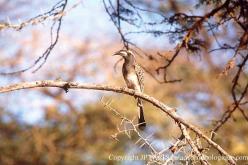
[{"label": "slender bird with long dark tail perched on the arching branch", "polygon": [[[138,92],[144,91],[144,71],[142,67],[136,62],[134,53],[131,50],[120,50],[114,55],[122,56],[124,63],[122,66],[122,75],[129,89]],[[144,106],[142,100],[135,97],[138,107],[138,128],[144,130],[146,121],[144,117]]]}]

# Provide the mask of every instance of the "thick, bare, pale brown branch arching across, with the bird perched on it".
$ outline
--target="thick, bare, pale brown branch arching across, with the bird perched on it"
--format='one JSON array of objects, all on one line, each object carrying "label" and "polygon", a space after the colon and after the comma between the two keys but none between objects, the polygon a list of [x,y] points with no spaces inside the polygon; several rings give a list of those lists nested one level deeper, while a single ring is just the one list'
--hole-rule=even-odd
[{"label": "thick, bare, pale brown branch arching across, with the bird perched on it", "polygon": [[139,97],[153,104],[155,107],[158,107],[160,110],[162,110],[167,115],[169,115],[175,122],[183,124],[186,128],[189,128],[190,130],[195,132],[197,135],[205,139],[212,147],[218,150],[222,155],[226,156],[230,164],[236,164],[231,155],[229,155],[223,148],[221,148],[218,144],[212,141],[207,135],[203,134],[199,128],[196,128],[192,124],[180,118],[175,113],[175,108],[171,108],[147,94],[136,92],[131,89],[122,88],[122,87],[113,87],[113,86],[108,86],[108,85],[85,84],[85,83],[56,81],[56,80],[55,81],[43,80],[43,81],[34,81],[34,82],[22,82],[22,83],[9,85],[9,86],[3,86],[3,87],[0,87],[0,93],[6,93],[6,92],[21,90],[21,89],[38,88],[38,87],[57,87],[57,88],[62,88],[65,91],[68,91],[68,89],[92,89],[92,90],[112,91],[116,93],[123,93],[123,94],[127,94],[130,96]]}]

